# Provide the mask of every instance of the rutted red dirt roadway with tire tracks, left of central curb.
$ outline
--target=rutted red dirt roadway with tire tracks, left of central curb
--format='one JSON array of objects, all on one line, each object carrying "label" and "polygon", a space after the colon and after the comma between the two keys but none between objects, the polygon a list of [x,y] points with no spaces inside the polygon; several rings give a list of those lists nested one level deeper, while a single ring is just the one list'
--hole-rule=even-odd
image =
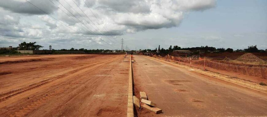
[{"label": "rutted red dirt roadway with tire tracks, left of central curb", "polygon": [[0,116],[126,116],[123,57],[0,57]]}]

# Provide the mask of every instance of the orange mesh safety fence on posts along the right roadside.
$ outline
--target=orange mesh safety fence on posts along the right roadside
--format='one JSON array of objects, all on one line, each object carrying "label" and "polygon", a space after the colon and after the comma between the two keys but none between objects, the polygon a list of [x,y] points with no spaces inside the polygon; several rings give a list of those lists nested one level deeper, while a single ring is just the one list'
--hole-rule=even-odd
[{"label": "orange mesh safety fence on posts along the right roadside", "polygon": [[[196,67],[202,70],[208,70],[219,74],[224,74],[231,77],[237,77],[243,80],[252,81],[256,83],[264,82],[267,84],[267,68],[266,67],[251,67],[251,66],[239,66],[226,63],[214,62],[207,58],[182,58],[168,56],[162,57],[160,55],[152,55],[165,61],[176,62],[186,66]],[[191,62],[191,63],[190,63]],[[205,66],[204,66],[205,63]]]}]

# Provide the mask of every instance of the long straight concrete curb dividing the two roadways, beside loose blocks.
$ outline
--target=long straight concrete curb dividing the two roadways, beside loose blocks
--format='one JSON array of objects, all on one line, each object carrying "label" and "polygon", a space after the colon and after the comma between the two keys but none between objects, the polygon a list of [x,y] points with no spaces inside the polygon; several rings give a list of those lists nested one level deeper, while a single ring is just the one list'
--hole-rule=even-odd
[{"label": "long straight concrete curb dividing the two roadways, beside loose blocks", "polygon": [[131,56],[130,56],[130,69],[129,69],[127,117],[134,117],[133,64],[132,64],[132,57]]}]

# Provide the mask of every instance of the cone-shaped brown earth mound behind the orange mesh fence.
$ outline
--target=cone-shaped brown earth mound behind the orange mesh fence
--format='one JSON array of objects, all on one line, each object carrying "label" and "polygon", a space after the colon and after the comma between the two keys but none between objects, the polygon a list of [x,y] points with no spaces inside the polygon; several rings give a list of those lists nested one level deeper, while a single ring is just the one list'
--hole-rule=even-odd
[{"label": "cone-shaped brown earth mound behind the orange mesh fence", "polygon": [[243,62],[264,62],[264,60],[262,60],[261,58],[258,58],[257,56],[251,53],[246,53],[244,55],[241,55],[236,60],[243,61]]}]

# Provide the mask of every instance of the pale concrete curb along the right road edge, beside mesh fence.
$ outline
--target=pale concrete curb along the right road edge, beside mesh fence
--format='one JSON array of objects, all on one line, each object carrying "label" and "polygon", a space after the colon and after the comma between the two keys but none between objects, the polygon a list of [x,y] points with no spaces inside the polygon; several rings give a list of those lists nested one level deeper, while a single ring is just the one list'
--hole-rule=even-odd
[{"label": "pale concrete curb along the right road edge, beside mesh fence", "polygon": [[[146,57],[149,57],[149,56],[146,56]],[[149,58],[153,58],[153,57],[149,57]],[[157,59],[157,58],[153,58],[153,59],[158,60],[158,61],[162,61],[162,62],[165,62],[165,63],[169,63],[169,64],[172,64],[174,66],[182,67],[182,68],[185,68],[185,69],[192,69],[192,67],[189,67],[189,66],[180,65],[180,64],[177,64],[177,63],[173,63],[173,62],[167,62],[167,61],[164,61],[164,60],[161,60],[161,59]],[[194,68],[194,69],[195,69],[194,70],[195,72],[198,72],[200,74],[204,74],[204,75],[207,75],[207,76],[211,76],[211,77],[215,77],[214,74],[218,74],[218,73],[214,73],[214,72],[211,72],[211,71],[199,70],[197,68]],[[234,81],[234,80],[229,79],[227,77],[229,77],[229,76],[220,74],[220,75],[217,75],[217,77],[215,77],[215,78],[218,78],[218,79],[223,80],[223,81],[227,81],[227,82],[230,82],[230,83],[233,83],[233,84],[236,84],[236,85],[240,85],[240,86],[243,86],[243,87],[246,87],[246,88],[249,88],[249,89],[253,89],[253,90],[256,90],[256,91],[259,91],[259,92],[263,92],[263,93],[267,94],[267,89],[266,88],[253,86],[253,85],[241,82],[241,81]]]}]

